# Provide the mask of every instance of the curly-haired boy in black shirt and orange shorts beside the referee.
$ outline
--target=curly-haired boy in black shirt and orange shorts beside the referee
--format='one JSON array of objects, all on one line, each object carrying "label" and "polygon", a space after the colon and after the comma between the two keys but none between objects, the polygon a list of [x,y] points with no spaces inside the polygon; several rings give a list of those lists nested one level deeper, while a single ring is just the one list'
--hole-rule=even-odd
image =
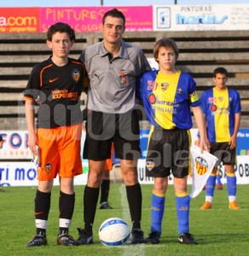
[{"label": "curly-haired boy in black shirt and orange shorts beside the referee", "polygon": [[[60,177],[61,189],[57,244],[78,245],[68,230],[75,202],[73,177],[82,173],[82,114],[79,99],[82,90],[89,85],[89,79],[84,64],[68,56],[74,41],[75,33],[71,26],[61,22],[50,26],[47,45],[52,55],[33,67],[24,91],[28,146],[33,154],[38,154],[39,159],[35,198],[37,232],[27,247],[47,245],[51,190],[57,175]],[[39,106],[36,128],[35,102]]]}]

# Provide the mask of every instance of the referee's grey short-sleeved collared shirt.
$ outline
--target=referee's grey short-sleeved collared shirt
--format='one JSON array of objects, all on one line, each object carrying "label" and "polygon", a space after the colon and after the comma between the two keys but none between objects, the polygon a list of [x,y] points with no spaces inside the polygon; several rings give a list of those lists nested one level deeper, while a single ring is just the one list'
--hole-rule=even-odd
[{"label": "referee's grey short-sleeved collared shirt", "polygon": [[90,78],[87,108],[103,113],[126,113],[136,104],[136,78],[151,70],[142,49],[123,40],[114,58],[103,41],[90,45],[79,57]]}]

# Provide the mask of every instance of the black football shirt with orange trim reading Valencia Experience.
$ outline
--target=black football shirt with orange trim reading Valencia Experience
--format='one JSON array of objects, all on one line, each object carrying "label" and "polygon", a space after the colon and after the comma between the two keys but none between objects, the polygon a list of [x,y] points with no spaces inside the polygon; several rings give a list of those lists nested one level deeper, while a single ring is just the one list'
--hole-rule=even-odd
[{"label": "black football shirt with orange trim reading Valencia Experience", "polygon": [[50,56],[33,67],[24,96],[39,105],[38,128],[82,123],[79,100],[88,85],[84,64],[72,58],[67,65],[59,67]]}]

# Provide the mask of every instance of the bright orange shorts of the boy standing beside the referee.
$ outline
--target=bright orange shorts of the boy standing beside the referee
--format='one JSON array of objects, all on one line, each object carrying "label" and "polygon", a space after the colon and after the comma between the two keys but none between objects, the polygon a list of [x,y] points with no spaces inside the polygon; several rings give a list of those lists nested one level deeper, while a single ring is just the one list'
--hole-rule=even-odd
[{"label": "bright orange shorts of the boy standing beside the referee", "polygon": [[80,140],[82,125],[38,128],[39,164],[38,180],[74,177],[82,173]]}]

